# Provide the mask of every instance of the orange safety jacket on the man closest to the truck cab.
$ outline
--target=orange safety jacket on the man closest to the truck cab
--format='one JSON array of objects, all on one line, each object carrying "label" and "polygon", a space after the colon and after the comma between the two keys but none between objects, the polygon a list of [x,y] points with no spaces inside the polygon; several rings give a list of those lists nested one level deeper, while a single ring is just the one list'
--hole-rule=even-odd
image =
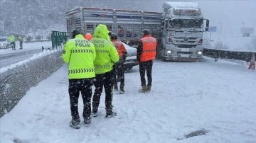
[{"label": "orange safety jacket on the man closest to the truck cab", "polygon": [[156,38],[151,35],[144,35],[142,40],[142,56],[140,62],[146,62],[155,59],[156,57]]}]

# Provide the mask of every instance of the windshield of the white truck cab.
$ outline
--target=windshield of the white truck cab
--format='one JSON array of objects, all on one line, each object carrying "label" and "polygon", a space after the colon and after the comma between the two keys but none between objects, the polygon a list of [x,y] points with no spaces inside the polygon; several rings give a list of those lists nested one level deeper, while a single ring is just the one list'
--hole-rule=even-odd
[{"label": "windshield of the white truck cab", "polygon": [[202,28],[203,19],[174,19],[170,21],[171,28]]}]

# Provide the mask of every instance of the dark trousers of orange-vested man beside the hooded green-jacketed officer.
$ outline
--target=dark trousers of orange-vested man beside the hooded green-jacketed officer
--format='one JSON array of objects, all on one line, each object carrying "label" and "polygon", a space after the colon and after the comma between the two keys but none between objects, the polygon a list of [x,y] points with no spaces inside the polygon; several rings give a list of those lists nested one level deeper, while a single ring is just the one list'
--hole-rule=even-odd
[{"label": "dark trousers of orange-vested man beside the hooded green-jacketed officer", "polygon": [[117,86],[119,80],[120,86],[124,86],[124,62],[119,62],[114,67],[114,86]]}]

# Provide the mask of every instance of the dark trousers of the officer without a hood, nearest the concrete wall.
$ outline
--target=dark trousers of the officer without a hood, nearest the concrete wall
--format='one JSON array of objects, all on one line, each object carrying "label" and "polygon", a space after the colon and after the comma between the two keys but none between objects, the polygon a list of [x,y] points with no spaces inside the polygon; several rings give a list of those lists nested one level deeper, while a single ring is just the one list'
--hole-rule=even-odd
[{"label": "dark trousers of the officer without a hood, nearest the concrete wall", "polygon": [[78,113],[78,98],[81,92],[83,101],[82,117],[87,118],[91,114],[92,79],[69,79],[68,93],[70,95],[70,110],[73,120],[80,120]]}]

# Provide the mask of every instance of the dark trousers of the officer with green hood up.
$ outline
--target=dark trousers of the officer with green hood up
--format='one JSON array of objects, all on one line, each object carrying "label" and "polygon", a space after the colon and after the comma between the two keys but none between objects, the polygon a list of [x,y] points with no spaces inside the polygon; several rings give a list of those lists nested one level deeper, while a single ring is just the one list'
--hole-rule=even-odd
[{"label": "dark trousers of the officer with green hood up", "polygon": [[105,88],[105,109],[107,113],[112,113],[112,100],[113,100],[113,80],[114,80],[114,70],[108,71],[104,74],[96,74],[95,93],[92,98],[92,112],[96,113],[100,105],[100,96]]}]

